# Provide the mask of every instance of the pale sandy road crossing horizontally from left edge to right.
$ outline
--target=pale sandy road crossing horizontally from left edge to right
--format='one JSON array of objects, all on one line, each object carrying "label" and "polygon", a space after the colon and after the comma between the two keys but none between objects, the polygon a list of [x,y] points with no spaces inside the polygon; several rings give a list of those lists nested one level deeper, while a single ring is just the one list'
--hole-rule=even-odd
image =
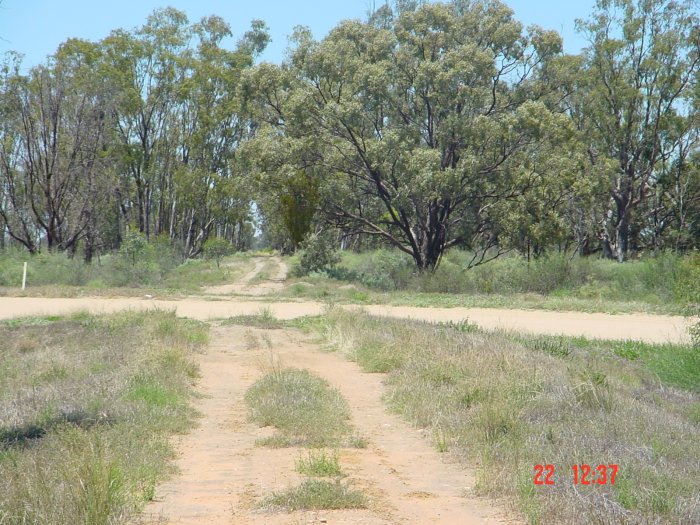
[{"label": "pale sandy road crossing horizontally from left edge to right", "polygon": [[[188,298],[179,301],[145,300],[137,298],[0,298],[0,319],[23,315],[56,315],[86,310],[114,312],[123,309],[160,308],[174,310],[177,315],[210,320],[232,315],[255,314],[269,308],[280,319],[303,315],[318,315],[324,305],[317,302],[240,301],[227,299],[208,301]],[[460,321],[468,319],[487,329],[502,328],[537,334],[585,336],[599,339],[634,339],[651,343],[687,341],[688,321],[680,316],[581,312],[548,312],[534,310],[505,310],[498,308],[418,308],[412,306],[369,305],[343,306],[362,308],[374,315],[418,319],[423,321]]]}]

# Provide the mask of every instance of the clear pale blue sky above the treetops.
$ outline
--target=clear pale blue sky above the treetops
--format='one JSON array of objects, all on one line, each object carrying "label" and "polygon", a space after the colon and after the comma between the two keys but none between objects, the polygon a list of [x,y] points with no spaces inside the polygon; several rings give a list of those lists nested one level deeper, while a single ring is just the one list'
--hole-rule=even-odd
[{"label": "clear pale blue sky above the treetops", "polygon": [[[375,0],[382,5],[384,0]],[[112,29],[140,26],[158,7],[172,6],[191,21],[219,15],[240,36],[250,20],[267,22],[272,43],[263,60],[284,57],[287,36],[295,25],[306,25],[323,37],[340,20],[364,18],[373,0],[0,0],[0,54],[18,51],[25,66],[42,62],[67,38],[99,40]],[[585,41],[576,34],[574,20],[590,13],[594,0],[505,0],[525,25],[539,24],[564,37],[567,52],[578,52]]]}]

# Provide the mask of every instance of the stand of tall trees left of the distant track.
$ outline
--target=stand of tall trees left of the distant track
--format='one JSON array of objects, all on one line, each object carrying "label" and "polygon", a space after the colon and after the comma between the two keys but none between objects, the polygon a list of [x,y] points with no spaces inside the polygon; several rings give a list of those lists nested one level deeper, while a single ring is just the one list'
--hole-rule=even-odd
[{"label": "stand of tall trees left of the distant track", "polygon": [[46,64],[0,78],[0,226],[30,252],[86,260],[125,230],[167,235],[187,256],[210,235],[244,248],[250,197],[234,169],[250,135],[241,71],[268,36],[255,21],[233,50],[228,24],[174,9],[100,42],[71,39]]}]

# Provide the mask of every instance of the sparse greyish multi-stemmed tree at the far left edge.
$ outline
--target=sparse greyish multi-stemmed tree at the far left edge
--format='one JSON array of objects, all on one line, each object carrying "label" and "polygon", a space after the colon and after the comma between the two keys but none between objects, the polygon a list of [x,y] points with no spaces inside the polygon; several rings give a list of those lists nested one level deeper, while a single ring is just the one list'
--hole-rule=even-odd
[{"label": "sparse greyish multi-stemmed tree at the far left edge", "polygon": [[27,75],[15,69],[3,82],[0,214],[29,251],[43,237],[50,250],[75,252],[86,239],[92,256],[94,224],[110,181],[104,176],[109,101],[94,76],[95,44],[68,40]]}]

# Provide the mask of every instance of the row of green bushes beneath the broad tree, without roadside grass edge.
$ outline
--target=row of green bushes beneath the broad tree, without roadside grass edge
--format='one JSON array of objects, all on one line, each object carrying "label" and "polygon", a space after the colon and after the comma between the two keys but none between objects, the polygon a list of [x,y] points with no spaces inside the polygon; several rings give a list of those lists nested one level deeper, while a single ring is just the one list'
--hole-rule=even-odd
[{"label": "row of green bushes beneath the broad tree, without roadside grass edge", "polygon": [[412,259],[398,250],[344,253],[332,276],[382,291],[497,294],[536,293],[582,299],[688,304],[700,300],[700,256],[672,252],[616,261],[550,253],[531,261],[517,254],[469,268],[473,254],[445,253],[434,272],[418,273]]}]

